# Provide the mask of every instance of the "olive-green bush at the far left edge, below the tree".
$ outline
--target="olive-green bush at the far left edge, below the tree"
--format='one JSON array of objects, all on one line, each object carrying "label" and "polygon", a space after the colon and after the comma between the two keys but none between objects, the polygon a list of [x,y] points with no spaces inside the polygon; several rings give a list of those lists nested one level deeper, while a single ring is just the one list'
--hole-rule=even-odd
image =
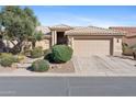
[{"label": "olive-green bush at the far left edge, below the tree", "polygon": [[13,63],[18,63],[18,57],[13,56],[12,54],[2,53],[0,55],[0,64],[3,67],[10,67]]}]

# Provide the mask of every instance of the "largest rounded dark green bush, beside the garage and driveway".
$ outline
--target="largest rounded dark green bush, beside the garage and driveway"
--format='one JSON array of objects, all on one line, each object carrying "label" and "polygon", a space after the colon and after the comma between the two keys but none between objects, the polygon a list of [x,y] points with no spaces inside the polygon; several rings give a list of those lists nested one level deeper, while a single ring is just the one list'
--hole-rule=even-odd
[{"label": "largest rounded dark green bush, beside the garage and driveway", "polygon": [[55,45],[52,48],[52,59],[54,63],[66,63],[71,59],[72,49],[67,45]]}]

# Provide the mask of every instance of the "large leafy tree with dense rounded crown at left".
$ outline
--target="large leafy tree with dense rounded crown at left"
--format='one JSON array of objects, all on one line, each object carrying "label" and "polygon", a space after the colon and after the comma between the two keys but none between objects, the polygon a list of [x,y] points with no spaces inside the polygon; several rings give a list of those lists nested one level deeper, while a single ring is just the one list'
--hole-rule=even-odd
[{"label": "large leafy tree with dense rounded crown at left", "polygon": [[5,32],[3,36],[13,44],[12,49],[16,53],[22,52],[24,43],[36,34],[37,25],[39,22],[30,8],[7,5],[0,11],[0,26]]}]

